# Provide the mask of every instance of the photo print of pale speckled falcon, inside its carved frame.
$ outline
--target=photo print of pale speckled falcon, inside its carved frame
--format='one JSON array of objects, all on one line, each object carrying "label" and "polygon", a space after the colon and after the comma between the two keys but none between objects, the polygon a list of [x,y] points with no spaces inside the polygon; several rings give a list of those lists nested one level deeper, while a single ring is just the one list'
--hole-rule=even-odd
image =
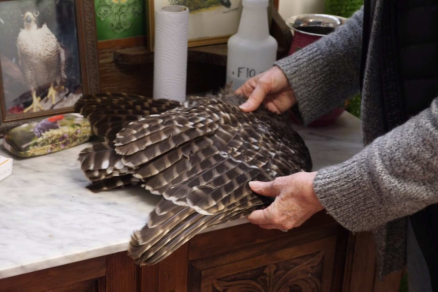
[{"label": "photo print of pale speckled falcon, inside its carved frame", "polygon": [[0,2],[7,116],[72,107],[82,95],[75,13],[75,0]]}]

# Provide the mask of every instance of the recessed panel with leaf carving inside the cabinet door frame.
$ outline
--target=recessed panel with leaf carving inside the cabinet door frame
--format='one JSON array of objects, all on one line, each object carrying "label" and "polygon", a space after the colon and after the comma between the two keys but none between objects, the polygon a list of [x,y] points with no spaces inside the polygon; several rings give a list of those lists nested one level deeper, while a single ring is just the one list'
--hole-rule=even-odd
[{"label": "recessed panel with leaf carving inside the cabinet door frame", "polygon": [[204,271],[202,291],[330,291],[336,237]]}]

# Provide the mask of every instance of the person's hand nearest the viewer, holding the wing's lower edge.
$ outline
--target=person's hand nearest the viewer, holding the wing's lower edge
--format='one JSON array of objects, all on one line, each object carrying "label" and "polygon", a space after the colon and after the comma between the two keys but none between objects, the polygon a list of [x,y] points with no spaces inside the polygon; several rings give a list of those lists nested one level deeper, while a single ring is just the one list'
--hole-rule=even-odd
[{"label": "person's hand nearest the viewer, holding the wing's lower edge", "polygon": [[324,209],[314,190],[317,172],[298,172],[277,177],[270,182],[252,181],[249,187],[263,196],[275,196],[267,208],[256,210],[247,218],[265,229],[290,230]]}]

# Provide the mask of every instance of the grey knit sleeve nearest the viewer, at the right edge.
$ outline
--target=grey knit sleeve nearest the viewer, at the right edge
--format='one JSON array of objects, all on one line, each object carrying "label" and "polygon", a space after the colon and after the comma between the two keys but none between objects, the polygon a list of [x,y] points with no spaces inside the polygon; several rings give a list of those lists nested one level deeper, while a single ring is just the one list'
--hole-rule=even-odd
[{"label": "grey knit sleeve nearest the viewer, at the right edge", "polygon": [[347,229],[372,230],[438,203],[438,98],[342,164],[320,170],[314,187]]}]

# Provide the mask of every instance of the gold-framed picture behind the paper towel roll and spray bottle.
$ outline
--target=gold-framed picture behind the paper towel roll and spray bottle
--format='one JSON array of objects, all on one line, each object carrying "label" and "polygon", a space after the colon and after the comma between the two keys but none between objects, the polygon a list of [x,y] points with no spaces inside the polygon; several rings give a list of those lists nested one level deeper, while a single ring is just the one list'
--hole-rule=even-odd
[{"label": "gold-framed picture behind the paper towel roll and spray bottle", "polygon": [[226,43],[239,28],[242,0],[149,0],[149,49],[154,44],[154,11],[166,5],[189,8],[189,47]]}]

